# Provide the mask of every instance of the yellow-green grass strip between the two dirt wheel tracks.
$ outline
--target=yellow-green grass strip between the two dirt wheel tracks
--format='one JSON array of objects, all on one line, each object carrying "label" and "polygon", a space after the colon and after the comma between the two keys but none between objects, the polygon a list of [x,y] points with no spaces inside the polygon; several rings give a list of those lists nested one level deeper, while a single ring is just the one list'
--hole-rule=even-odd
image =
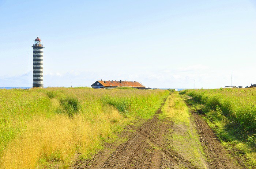
[{"label": "yellow-green grass strip between the two dirt wheel tracks", "polygon": [[174,122],[173,128],[170,129],[171,142],[169,145],[172,145],[170,148],[198,168],[206,168],[206,159],[204,159],[199,135],[193,126],[193,118],[184,98],[174,91],[168,96],[162,107],[162,112],[161,118],[169,118]]}]

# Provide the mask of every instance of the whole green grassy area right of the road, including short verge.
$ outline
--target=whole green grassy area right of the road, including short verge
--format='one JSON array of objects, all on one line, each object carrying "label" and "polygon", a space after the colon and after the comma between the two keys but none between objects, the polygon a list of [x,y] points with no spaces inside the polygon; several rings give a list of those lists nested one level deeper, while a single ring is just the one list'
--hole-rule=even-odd
[{"label": "whole green grassy area right of the road, including short verge", "polygon": [[184,90],[187,102],[204,114],[222,144],[241,157],[247,168],[256,166],[256,89]]}]

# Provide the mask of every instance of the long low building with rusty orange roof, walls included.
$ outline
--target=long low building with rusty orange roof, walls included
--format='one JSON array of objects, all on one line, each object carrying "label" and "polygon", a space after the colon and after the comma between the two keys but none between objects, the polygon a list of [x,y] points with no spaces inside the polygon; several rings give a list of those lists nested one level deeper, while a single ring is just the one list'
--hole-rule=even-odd
[{"label": "long low building with rusty orange roof, walls included", "polygon": [[91,85],[94,89],[114,89],[116,87],[133,87],[136,89],[150,89],[149,87],[143,86],[141,83],[136,81],[115,81],[115,80],[97,80]]}]

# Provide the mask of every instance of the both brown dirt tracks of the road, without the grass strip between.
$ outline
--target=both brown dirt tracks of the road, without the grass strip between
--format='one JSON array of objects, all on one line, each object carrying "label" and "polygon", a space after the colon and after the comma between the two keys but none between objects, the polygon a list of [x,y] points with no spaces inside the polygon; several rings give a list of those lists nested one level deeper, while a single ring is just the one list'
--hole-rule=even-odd
[{"label": "both brown dirt tracks of the road, without the grass strip between", "polygon": [[[171,129],[174,123],[170,119],[159,118],[161,113],[159,108],[153,118],[140,125],[128,125],[117,141],[106,144],[90,160],[76,160],[72,169],[200,168],[173,150]],[[229,152],[199,115],[192,113],[191,119],[205,154],[204,168],[242,168],[227,155]]]}]

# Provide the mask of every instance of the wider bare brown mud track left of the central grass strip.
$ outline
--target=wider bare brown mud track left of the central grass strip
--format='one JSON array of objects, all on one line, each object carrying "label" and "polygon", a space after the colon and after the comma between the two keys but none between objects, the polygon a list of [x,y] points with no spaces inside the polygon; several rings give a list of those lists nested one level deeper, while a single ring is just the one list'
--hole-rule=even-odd
[{"label": "wider bare brown mud track left of the central grass strip", "polygon": [[[166,100],[165,100],[166,101]],[[165,103],[165,101],[162,103]],[[161,106],[161,107],[162,107]],[[76,160],[72,169],[167,169],[196,168],[189,161],[167,148],[165,135],[170,134],[173,122],[159,119],[161,108],[154,117],[139,127],[128,125],[116,141],[106,144],[105,149],[93,156],[91,160]]]}]

